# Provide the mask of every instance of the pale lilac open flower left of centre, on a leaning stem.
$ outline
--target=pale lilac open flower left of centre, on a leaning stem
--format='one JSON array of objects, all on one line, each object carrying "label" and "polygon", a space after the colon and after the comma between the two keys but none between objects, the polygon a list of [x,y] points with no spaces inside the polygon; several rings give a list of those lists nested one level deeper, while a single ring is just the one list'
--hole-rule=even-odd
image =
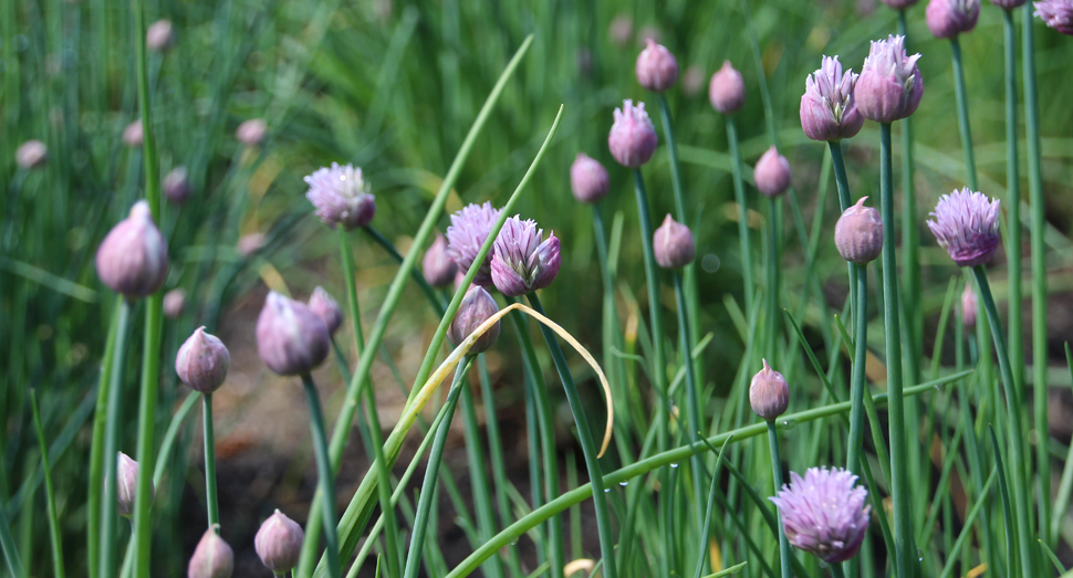
[{"label": "pale lilac open flower left of centre, on a leaning stem", "polygon": [[351,165],[322,167],[305,177],[310,190],[305,198],[316,208],[316,216],[324,224],[335,228],[342,224],[351,231],[365,227],[376,214],[376,199],[368,192],[368,183],[362,169]]}]

